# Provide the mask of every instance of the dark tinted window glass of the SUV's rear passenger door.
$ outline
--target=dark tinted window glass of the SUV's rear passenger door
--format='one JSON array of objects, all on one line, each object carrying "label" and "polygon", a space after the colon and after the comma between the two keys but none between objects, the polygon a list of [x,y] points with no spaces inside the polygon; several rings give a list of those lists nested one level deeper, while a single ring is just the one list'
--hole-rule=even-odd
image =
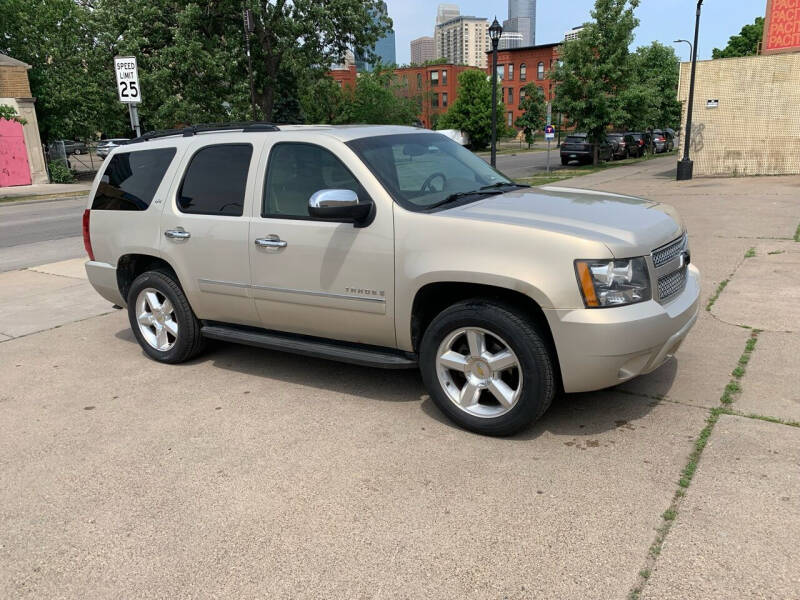
[{"label": "dark tinted window glass of the SUV's rear passenger door", "polygon": [[252,155],[250,144],[220,144],[198,150],[178,191],[181,212],[241,217]]}]

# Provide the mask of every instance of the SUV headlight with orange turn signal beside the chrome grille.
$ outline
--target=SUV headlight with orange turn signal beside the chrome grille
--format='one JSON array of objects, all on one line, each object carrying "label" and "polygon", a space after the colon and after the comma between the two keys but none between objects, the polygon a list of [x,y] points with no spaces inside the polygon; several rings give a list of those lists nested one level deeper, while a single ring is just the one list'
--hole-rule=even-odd
[{"label": "SUV headlight with orange turn signal beside the chrome grille", "polygon": [[586,308],[623,306],[650,300],[650,274],[644,257],[576,260],[575,273]]}]

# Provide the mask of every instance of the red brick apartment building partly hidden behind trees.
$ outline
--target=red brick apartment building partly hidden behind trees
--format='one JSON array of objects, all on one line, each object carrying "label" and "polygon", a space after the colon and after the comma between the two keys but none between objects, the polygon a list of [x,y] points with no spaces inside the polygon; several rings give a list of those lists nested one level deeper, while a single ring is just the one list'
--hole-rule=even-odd
[{"label": "red brick apartment building partly hidden behind trees", "polygon": [[[545,44],[525,48],[510,48],[497,53],[497,72],[500,79],[499,91],[506,107],[504,119],[513,126],[519,110],[522,88],[534,83],[544,92],[545,100],[553,98],[553,84],[547,79],[550,69],[558,59],[560,44]],[[489,57],[491,65],[491,56]],[[398,94],[418,98],[421,102],[419,120],[424,127],[433,127],[437,115],[447,112],[458,95],[458,76],[467,69],[465,65],[429,65],[424,67],[405,67],[395,69],[399,83]],[[491,66],[486,70],[491,75]],[[328,73],[340,86],[355,87],[358,76],[354,66],[337,69]]]}]

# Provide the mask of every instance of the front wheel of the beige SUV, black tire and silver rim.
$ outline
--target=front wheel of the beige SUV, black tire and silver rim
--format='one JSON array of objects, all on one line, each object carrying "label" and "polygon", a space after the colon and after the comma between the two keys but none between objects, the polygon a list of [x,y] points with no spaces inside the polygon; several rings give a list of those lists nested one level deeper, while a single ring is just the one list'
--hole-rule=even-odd
[{"label": "front wheel of the beige SUV, black tire and silver rim", "polygon": [[425,331],[419,360],[439,410],[476,433],[517,433],[539,419],[555,395],[544,337],[524,312],[502,302],[472,299],[441,312]]}]

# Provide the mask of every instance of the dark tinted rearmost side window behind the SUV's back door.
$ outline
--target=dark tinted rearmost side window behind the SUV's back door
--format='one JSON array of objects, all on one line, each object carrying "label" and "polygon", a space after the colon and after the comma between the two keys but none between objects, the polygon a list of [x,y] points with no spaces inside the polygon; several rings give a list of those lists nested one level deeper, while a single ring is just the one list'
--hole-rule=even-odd
[{"label": "dark tinted rearmost side window behind the SUV's back door", "polygon": [[97,186],[92,210],[146,210],[174,157],[175,148],[111,157]]}]

